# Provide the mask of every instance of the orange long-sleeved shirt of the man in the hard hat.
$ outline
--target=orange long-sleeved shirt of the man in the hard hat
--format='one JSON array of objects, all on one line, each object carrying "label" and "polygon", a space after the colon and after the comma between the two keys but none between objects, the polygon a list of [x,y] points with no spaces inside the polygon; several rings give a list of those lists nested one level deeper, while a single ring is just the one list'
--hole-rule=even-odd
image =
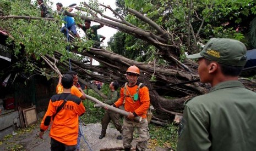
[{"label": "orange long-sleeved shirt of the man in the hard hat", "polygon": [[126,94],[124,94],[124,85],[120,90],[120,98],[114,103],[113,106],[119,107],[122,106],[125,97],[124,110],[127,112],[132,112],[134,116],[140,116],[146,118],[146,113],[149,108],[150,99],[149,99],[149,89],[143,84],[138,90],[138,101],[133,100],[134,94],[137,92],[139,82],[136,85],[129,87],[127,84]]}]

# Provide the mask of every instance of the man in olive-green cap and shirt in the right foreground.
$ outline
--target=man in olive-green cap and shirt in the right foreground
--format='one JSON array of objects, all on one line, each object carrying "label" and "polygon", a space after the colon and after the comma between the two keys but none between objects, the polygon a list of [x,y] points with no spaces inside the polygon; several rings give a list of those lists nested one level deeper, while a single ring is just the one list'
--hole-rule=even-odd
[{"label": "man in olive-green cap and shirt in the right foreground", "polygon": [[256,93],[238,81],[246,47],[233,39],[212,38],[199,54],[200,82],[209,94],[186,102],[177,150],[255,150]]}]

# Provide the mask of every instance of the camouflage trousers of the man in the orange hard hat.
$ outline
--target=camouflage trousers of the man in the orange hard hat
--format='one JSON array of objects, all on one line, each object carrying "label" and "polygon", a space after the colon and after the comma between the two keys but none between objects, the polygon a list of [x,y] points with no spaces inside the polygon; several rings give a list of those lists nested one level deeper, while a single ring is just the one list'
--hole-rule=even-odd
[{"label": "camouflage trousers of the man in the orange hard hat", "polygon": [[149,140],[148,120],[146,118],[142,119],[140,122],[123,118],[123,128],[122,128],[123,147],[124,148],[132,147],[131,143],[133,141],[133,131],[135,127],[137,127],[138,133],[139,133],[137,149],[146,150],[146,148],[148,148],[147,146],[148,146],[148,140]]}]

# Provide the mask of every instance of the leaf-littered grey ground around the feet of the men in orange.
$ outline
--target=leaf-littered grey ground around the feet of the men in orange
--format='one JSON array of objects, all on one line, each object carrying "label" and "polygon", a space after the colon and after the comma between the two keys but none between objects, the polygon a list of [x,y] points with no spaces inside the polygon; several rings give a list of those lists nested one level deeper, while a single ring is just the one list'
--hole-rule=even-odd
[{"label": "leaf-littered grey ground around the feet of the men in orange", "polygon": [[[24,132],[22,134],[18,133],[13,137],[2,140],[0,142],[0,150],[51,150],[49,131],[46,131],[43,135],[43,139],[41,139],[38,137],[39,127],[38,123],[32,130],[28,130],[28,132]],[[81,138],[80,150],[87,151],[100,150],[102,148],[123,147],[122,140],[117,140],[119,132],[115,129],[112,123],[108,125],[106,136],[101,140],[99,139],[101,133],[100,123],[81,125],[81,130],[83,131],[84,138]],[[132,142],[132,146],[135,147],[136,143],[137,139],[135,138]]]}]

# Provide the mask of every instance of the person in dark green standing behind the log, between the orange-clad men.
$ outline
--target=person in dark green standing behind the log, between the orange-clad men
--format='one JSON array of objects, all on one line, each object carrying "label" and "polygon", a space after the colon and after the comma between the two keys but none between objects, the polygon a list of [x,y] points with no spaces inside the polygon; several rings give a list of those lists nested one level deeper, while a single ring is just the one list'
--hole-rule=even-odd
[{"label": "person in dark green standing behind the log, between the orange-clad men", "polygon": [[[110,83],[110,92],[107,95],[107,100],[103,101],[104,103],[108,105],[112,105],[115,103],[118,99],[118,82],[114,81]],[[117,137],[117,140],[122,140],[122,125],[120,124],[120,115],[116,112],[112,111],[105,111],[104,117],[101,121],[102,129],[101,129],[101,135],[99,136],[100,139],[105,137],[106,131],[107,131],[107,125],[110,123],[110,120],[112,120],[113,124],[115,125],[116,129],[120,132],[120,135]]]}]

